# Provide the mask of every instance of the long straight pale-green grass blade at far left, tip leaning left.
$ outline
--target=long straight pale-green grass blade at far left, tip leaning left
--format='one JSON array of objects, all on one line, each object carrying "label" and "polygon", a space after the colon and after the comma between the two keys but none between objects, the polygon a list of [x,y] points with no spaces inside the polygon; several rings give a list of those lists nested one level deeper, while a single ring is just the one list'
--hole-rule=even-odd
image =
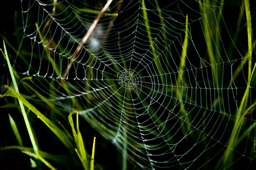
[{"label": "long straight pale-green grass blade at far left, tip leaning left", "polygon": [[[4,40],[3,40],[3,42],[4,42]],[[9,60],[9,57],[8,57],[8,54],[7,54],[7,51],[6,51],[5,43],[4,43],[4,53],[5,53],[6,61],[8,63],[8,67],[9,67],[10,74],[11,74],[11,77],[12,77],[12,82],[14,84],[14,88],[15,88],[15,91],[16,91],[15,94],[21,96],[20,93],[19,93],[19,90],[18,90],[18,85],[17,85],[15,77],[14,77],[14,70],[12,68],[12,65],[10,63],[10,60]],[[30,137],[33,149],[34,149],[35,153],[38,154],[38,147],[36,146],[36,140],[35,140],[36,137],[32,133],[32,128],[30,127],[30,123],[28,121],[28,117],[26,115],[26,111],[25,111],[25,108],[23,106],[23,103],[20,101],[19,98],[18,98],[18,100],[19,100],[20,108],[21,108],[21,111],[22,111],[22,115],[24,117],[24,121],[25,121],[26,127],[28,129],[28,134],[29,134],[29,137]]]}]

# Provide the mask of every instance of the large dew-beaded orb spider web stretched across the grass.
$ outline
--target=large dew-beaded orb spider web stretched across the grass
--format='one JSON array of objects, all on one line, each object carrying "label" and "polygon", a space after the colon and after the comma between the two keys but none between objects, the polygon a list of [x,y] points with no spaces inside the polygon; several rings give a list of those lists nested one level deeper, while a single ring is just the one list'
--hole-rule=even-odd
[{"label": "large dew-beaded orb spider web stretched across the grass", "polygon": [[247,88],[245,108],[256,94],[244,2],[21,4],[31,49],[27,63],[17,62],[23,74],[48,100],[80,110],[134,166],[255,167],[254,107],[240,109]]}]

